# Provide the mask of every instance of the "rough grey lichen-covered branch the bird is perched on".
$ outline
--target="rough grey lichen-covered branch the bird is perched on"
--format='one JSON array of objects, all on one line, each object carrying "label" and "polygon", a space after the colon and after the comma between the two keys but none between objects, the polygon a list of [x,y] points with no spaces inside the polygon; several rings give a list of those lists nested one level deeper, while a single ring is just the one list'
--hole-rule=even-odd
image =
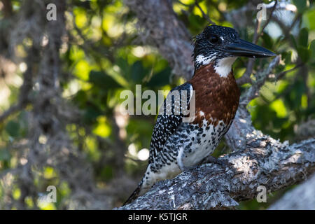
[{"label": "rough grey lichen-covered branch the bird is perched on", "polygon": [[257,195],[257,187],[273,192],[299,183],[315,170],[315,139],[288,146],[262,134],[248,145],[206,164],[160,181],[132,204],[119,209],[230,209]]}]

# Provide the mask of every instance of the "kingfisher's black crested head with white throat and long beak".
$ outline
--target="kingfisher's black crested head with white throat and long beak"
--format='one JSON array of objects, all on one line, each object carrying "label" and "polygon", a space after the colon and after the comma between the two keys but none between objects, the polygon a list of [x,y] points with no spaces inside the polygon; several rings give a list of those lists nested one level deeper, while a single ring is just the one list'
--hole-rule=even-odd
[{"label": "kingfisher's black crested head with white throat and long beak", "polygon": [[271,57],[275,54],[239,38],[235,29],[211,25],[195,38],[193,53],[195,71],[202,65],[213,64],[216,73],[226,77],[237,57]]}]

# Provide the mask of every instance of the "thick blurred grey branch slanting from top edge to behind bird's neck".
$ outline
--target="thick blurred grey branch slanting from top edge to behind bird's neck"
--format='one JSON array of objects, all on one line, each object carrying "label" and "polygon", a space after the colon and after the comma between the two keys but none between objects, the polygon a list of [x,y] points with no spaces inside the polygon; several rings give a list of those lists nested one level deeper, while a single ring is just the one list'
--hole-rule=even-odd
[{"label": "thick blurred grey branch slanting from top edge to behind bird's neck", "polygon": [[177,19],[172,1],[127,0],[125,4],[137,15],[141,41],[158,48],[176,75],[193,76],[191,36]]}]

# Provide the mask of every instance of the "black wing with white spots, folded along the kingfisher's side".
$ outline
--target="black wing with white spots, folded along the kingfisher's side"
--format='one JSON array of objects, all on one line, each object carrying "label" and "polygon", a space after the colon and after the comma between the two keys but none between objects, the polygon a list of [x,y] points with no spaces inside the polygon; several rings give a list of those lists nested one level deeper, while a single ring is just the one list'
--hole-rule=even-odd
[{"label": "black wing with white spots, folded along the kingfisher's side", "polygon": [[[192,94],[193,85],[184,83],[183,85],[175,87],[167,95],[167,99],[165,99],[163,106],[160,108],[158,119],[153,129],[149,164],[153,163],[155,158],[158,158],[157,155],[162,151],[167,139],[174,134],[176,128],[182,123],[184,116],[182,106],[184,109],[187,109]],[[183,99],[181,99],[182,97],[183,99],[186,98],[186,105]]]}]

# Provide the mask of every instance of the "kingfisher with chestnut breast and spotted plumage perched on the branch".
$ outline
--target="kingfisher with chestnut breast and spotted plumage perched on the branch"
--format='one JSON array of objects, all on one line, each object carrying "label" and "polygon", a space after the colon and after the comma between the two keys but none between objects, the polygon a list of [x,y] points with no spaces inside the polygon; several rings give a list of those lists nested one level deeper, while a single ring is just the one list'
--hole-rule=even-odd
[{"label": "kingfisher with chestnut breast and spotted plumage perched on the branch", "polygon": [[[193,77],[167,95],[153,128],[148,167],[125,204],[144,195],[157,181],[174,178],[214,152],[239,106],[240,91],[232,71],[237,57],[276,56],[242,40],[235,29],[219,25],[205,27],[193,44]],[[195,108],[189,122],[181,111],[184,104]]]}]

